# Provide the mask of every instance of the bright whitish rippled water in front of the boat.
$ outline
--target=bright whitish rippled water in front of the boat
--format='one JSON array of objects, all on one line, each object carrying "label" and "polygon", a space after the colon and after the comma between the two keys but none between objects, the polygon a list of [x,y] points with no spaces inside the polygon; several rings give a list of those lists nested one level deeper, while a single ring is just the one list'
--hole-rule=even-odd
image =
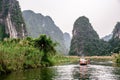
[{"label": "bright whitish rippled water in front of the boat", "polygon": [[115,74],[116,68],[112,66],[64,65],[55,68],[57,75],[54,80],[120,80],[120,74]]}]

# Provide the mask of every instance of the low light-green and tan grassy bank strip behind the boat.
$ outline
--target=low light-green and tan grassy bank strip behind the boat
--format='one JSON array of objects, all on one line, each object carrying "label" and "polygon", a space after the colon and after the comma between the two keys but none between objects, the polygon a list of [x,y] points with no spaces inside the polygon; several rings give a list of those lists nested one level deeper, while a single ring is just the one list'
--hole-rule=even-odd
[{"label": "low light-green and tan grassy bank strip behind the boat", "polygon": [[[61,56],[56,59],[56,65],[60,64],[71,64],[78,63],[81,56]],[[95,62],[105,62],[105,61],[113,61],[113,56],[86,56],[84,57],[86,60],[95,61]]]}]

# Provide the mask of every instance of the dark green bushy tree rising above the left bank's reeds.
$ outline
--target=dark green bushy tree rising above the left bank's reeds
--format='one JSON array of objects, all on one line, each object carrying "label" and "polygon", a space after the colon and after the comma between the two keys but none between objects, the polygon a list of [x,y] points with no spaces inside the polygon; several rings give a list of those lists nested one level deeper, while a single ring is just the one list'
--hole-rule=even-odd
[{"label": "dark green bushy tree rising above the left bank's reeds", "polygon": [[44,53],[41,59],[41,64],[51,65],[48,55],[55,55],[55,46],[57,43],[53,43],[51,38],[46,35],[41,35],[38,39],[35,39],[34,42],[34,46]]}]

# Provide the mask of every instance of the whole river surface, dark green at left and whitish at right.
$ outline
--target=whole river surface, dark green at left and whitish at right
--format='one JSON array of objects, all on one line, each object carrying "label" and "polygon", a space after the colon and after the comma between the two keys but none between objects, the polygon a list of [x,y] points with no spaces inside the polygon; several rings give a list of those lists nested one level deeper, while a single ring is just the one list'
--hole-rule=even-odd
[{"label": "whole river surface, dark green at left and whitish at right", "polygon": [[0,80],[120,80],[120,67],[113,67],[110,61],[69,64],[14,72],[0,76]]}]

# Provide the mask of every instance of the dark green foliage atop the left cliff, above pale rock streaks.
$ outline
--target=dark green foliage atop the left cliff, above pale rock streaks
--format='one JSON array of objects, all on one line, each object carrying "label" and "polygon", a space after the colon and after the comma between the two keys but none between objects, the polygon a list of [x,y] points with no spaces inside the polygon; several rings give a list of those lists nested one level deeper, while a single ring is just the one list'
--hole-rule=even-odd
[{"label": "dark green foliage atop the left cliff, above pale rock streaks", "polygon": [[11,15],[12,22],[14,22],[14,24],[16,24],[15,26],[19,29],[21,24],[24,23],[24,20],[22,18],[22,12],[18,1],[13,1],[13,3],[11,3],[10,0],[6,0],[5,3],[0,1],[0,4],[0,10],[2,10],[3,7],[3,16],[6,17],[9,13]]}]

